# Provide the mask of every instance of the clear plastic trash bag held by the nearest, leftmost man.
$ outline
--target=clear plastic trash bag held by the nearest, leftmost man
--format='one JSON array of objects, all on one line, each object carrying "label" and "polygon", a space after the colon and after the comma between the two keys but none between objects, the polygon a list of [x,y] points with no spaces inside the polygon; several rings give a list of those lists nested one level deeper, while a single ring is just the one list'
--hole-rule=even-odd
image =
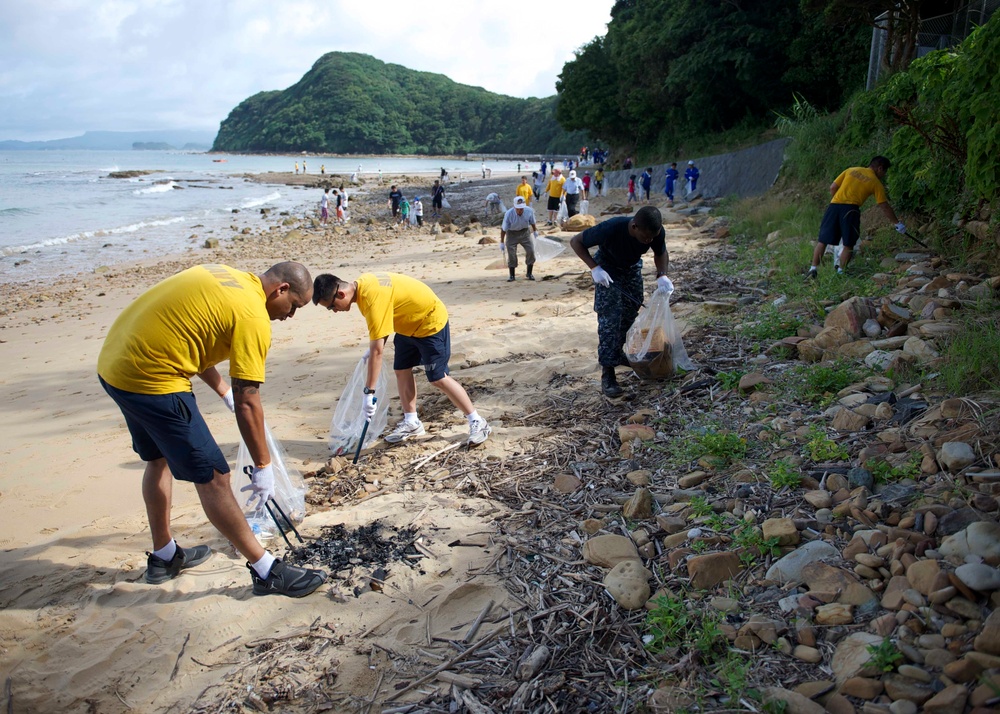
[{"label": "clear plastic trash bag held by the nearest, leftmost man", "polygon": [[[274,500],[281,506],[292,523],[301,523],[306,517],[306,484],[302,474],[298,469],[288,464],[288,457],[281,446],[281,442],[274,438],[271,428],[264,422],[264,437],[267,440],[267,450],[271,453],[271,468],[274,471]],[[254,509],[246,505],[250,491],[241,492],[240,489],[250,484],[250,477],[246,474],[246,467],[253,467],[253,459],[250,457],[250,450],[243,439],[240,439],[240,450],[236,455],[236,471],[230,476],[230,486],[236,502],[243,509],[247,523],[254,534],[261,537],[271,537],[277,533],[274,521],[268,515],[267,509],[263,505],[259,509]],[[257,503],[260,499],[255,499]],[[274,505],[271,505],[274,508]],[[275,510],[278,520],[281,514]]]}]

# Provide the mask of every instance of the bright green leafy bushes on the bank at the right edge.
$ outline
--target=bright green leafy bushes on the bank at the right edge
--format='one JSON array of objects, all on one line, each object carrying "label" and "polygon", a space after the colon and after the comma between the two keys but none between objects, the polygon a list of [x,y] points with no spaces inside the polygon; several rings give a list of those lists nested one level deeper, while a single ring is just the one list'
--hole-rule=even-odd
[{"label": "bright green leafy bushes on the bank at the right edge", "polygon": [[961,45],[920,57],[838,114],[786,122],[788,172],[829,181],[875,154],[892,162],[893,206],[950,223],[995,204],[1000,187],[1000,15]]}]

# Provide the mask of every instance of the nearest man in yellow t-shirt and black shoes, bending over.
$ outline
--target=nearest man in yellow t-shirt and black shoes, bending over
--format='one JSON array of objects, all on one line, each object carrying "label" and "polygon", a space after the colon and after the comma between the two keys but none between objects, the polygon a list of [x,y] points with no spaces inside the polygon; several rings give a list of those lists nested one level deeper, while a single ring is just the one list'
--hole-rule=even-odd
[{"label": "nearest man in yellow t-shirt and black shoes, bending over", "polygon": [[[241,490],[263,508],[274,495],[260,402],[270,321],[292,317],[310,297],[309,271],[299,263],[278,263],[259,276],[199,265],[151,287],[108,330],[98,378],[125,417],[132,448],[146,462],[142,497],[153,538],[147,583],[176,578],[212,554],[207,545],[181,548],[174,541],[173,479],[195,485],[208,520],[247,559],[255,595],[304,597],[326,579],[321,570],[276,559],[257,542],[230,490],[229,463],[191,391],[191,378],[198,375],[236,414],[254,460],[251,484]],[[215,367],[227,359],[232,388]]]}]

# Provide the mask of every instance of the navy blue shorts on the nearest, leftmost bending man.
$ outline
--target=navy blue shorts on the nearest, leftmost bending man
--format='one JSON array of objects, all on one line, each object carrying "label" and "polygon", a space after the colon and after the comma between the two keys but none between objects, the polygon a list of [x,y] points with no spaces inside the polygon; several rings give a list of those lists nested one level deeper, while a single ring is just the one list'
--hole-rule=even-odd
[{"label": "navy blue shorts on the nearest, leftmost bending man", "polygon": [[112,387],[98,376],[104,391],[122,410],[132,435],[132,449],[143,461],[167,460],[175,479],[209,483],[229,462],[208,430],[192,392],[136,394]]}]

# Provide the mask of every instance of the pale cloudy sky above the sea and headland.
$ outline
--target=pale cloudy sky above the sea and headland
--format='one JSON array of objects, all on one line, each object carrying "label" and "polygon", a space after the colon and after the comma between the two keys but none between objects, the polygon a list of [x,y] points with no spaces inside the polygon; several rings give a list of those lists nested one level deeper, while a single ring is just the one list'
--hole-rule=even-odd
[{"label": "pale cloudy sky above the sea and headland", "polygon": [[214,132],[326,52],[545,97],[613,0],[0,0],[0,140]]}]

